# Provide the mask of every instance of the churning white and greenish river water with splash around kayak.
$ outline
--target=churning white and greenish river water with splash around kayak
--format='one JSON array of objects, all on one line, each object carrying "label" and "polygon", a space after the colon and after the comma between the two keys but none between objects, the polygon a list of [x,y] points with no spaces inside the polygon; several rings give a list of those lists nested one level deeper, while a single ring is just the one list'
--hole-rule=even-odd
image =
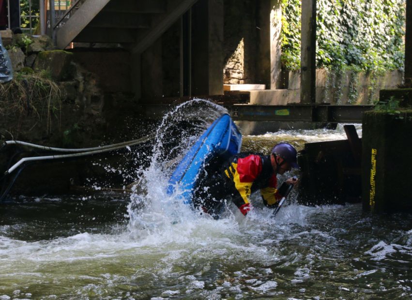
[{"label": "churning white and greenish river water with splash around kayak", "polygon": [[[213,111],[202,113],[213,119]],[[132,195],[22,196],[2,205],[0,299],[412,298],[410,215],[305,207],[292,195],[272,219],[255,196],[247,218],[229,205],[216,221],[166,195],[174,164],[162,158],[179,157],[206,123],[196,126],[179,146],[166,146],[165,131],[157,132]],[[343,130],[246,136],[244,150],[337,138]]]}]

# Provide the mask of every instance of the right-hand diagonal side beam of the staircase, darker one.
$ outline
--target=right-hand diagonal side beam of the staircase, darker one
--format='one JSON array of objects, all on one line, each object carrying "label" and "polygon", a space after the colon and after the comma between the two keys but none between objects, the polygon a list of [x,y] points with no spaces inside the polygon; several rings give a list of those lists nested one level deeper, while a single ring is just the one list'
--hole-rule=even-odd
[{"label": "right-hand diagonal side beam of the staircase, darker one", "polygon": [[167,12],[153,17],[153,28],[147,33],[137,34],[133,53],[141,53],[152,45],[168,28],[176,22],[197,0],[169,0]]}]

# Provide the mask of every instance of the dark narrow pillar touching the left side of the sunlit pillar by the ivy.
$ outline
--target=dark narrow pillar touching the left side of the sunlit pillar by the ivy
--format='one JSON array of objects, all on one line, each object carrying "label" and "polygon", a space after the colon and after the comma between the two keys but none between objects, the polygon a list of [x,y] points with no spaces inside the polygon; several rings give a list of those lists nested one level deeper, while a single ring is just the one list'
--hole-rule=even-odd
[{"label": "dark narrow pillar touching the left side of the sunlit pillar by the ivy", "polygon": [[257,1],[257,45],[256,80],[257,84],[271,87],[271,0]]}]

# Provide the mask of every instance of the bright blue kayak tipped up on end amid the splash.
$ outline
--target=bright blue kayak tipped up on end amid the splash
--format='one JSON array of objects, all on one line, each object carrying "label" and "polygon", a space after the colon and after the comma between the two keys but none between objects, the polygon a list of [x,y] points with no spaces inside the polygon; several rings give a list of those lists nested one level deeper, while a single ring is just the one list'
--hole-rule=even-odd
[{"label": "bright blue kayak tipped up on end amid the splash", "polygon": [[169,179],[167,193],[172,195],[179,185],[185,204],[192,203],[198,177],[205,164],[216,156],[227,159],[239,153],[242,134],[228,114],[223,114],[198,138],[183,157]]}]

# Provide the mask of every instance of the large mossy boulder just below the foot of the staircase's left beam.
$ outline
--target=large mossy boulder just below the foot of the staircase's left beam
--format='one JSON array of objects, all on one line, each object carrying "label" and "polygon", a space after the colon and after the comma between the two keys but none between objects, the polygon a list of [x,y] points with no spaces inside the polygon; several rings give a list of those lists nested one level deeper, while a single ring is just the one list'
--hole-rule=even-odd
[{"label": "large mossy boulder just below the foot of the staircase's left beam", "polygon": [[63,50],[39,52],[34,62],[34,70],[47,70],[50,72],[52,79],[57,81],[73,79],[76,73],[73,53]]}]

